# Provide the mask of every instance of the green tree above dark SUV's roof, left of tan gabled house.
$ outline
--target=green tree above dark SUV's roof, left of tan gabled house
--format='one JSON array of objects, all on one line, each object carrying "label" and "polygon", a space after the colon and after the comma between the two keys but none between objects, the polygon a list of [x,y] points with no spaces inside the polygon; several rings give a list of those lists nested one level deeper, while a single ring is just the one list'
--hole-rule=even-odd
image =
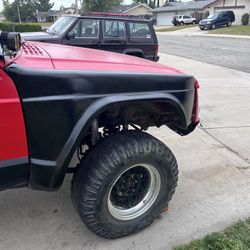
[{"label": "green tree above dark SUV's roof, left of tan gabled house", "polygon": [[123,0],[83,0],[82,7],[85,12],[110,11],[114,6],[121,5]]}]

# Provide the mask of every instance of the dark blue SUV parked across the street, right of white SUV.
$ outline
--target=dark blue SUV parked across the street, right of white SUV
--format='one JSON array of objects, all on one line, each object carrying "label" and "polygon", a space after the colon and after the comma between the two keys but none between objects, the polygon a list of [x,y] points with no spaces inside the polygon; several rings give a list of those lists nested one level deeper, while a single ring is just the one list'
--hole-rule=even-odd
[{"label": "dark blue SUV parked across the street, right of white SUV", "polygon": [[199,23],[201,30],[215,29],[220,26],[230,27],[235,21],[235,15],[233,11],[220,11],[209,15],[206,19],[203,19]]}]

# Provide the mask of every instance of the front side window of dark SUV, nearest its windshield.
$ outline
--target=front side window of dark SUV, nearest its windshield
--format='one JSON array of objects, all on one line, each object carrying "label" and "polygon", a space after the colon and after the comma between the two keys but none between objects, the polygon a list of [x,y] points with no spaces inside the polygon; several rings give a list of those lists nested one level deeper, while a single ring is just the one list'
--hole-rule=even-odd
[{"label": "front side window of dark SUV, nearest its windshield", "polygon": [[83,19],[80,20],[72,32],[75,37],[99,37],[99,20]]}]

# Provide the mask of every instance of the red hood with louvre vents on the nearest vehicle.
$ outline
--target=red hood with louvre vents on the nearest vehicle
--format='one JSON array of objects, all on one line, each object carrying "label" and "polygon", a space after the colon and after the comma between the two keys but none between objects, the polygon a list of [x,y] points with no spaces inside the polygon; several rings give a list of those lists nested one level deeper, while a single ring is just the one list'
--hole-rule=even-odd
[{"label": "red hood with louvre vents on the nearest vehicle", "polygon": [[12,62],[39,69],[181,74],[176,69],[137,57],[38,42],[25,42],[19,55],[8,64]]}]

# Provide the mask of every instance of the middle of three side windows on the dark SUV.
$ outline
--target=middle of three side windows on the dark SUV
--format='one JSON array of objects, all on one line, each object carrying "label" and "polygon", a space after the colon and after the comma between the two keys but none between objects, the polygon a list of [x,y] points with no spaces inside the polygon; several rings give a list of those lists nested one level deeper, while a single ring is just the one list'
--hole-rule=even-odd
[{"label": "middle of three side windows on the dark SUV", "polygon": [[123,21],[104,21],[103,22],[103,37],[120,37],[124,38],[125,22]]}]

